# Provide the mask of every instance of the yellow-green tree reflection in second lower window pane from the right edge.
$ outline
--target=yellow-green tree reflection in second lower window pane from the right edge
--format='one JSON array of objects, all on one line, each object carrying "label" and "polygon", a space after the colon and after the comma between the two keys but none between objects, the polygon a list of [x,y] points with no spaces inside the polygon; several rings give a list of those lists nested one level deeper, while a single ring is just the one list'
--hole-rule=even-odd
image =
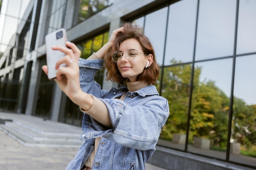
[{"label": "yellow-green tree reflection in second lower window pane from the right edge", "polygon": [[229,97],[215,82],[199,82],[200,68],[197,69],[199,73],[194,75],[189,141],[193,141],[193,137],[202,137],[211,139],[212,146],[225,147]]}]

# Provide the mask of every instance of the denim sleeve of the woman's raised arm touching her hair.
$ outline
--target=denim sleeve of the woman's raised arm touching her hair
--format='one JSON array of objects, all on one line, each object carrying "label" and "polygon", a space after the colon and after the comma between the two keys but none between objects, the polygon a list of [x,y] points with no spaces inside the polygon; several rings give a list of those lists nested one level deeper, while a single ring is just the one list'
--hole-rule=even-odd
[{"label": "denim sleeve of the woman's raised arm touching her hair", "polygon": [[95,97],[103,97],[107,91],[101,90],[101,86],[94,81],[94,75],[103,68],[103,60],[79,59],[79,80],[82,91]]}]

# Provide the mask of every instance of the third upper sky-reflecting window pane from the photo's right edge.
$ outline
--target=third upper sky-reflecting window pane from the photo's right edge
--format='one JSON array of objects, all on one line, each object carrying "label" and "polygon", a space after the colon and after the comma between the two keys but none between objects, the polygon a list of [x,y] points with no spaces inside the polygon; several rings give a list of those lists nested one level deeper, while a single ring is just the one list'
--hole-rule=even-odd
[{"label": "third upper sky-reflecting window pane from the photo's right edge", "polygon": [[[164,65],[192,62],[197,0],[182,0],[170,5]],[[179,16],[179,17],[177,17]]]}]

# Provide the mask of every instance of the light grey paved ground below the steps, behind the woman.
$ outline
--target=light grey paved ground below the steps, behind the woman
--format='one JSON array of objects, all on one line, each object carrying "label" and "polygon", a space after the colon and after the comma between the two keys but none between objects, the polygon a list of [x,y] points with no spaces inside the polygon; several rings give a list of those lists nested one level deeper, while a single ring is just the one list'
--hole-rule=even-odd
[{"label": "light grey paved ground below the steps, behind the woman", "polygon": [[[24,147],[0,130],[0,170],[65,170],[78,148]],[[164,170],[146,164],[146,170]]]}]

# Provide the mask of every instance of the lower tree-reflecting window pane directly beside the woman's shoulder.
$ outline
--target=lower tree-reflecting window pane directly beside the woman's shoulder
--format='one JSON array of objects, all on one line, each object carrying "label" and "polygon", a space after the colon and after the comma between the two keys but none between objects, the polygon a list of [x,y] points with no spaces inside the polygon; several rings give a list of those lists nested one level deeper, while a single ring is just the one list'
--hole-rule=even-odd
[{"label": "lower tree-reflecting window pane directly beside the woman's shoulder", "polygon": [[170,115],[162,128],[159,145],[185,148],[190,81],[191,64],[164,68],[161,95],[168,99]]}]

